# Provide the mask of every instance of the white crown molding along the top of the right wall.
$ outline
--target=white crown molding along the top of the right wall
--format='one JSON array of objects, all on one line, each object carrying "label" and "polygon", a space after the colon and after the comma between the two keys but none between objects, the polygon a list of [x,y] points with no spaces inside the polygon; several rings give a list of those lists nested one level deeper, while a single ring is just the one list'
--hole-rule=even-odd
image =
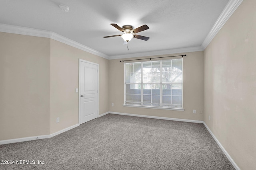
[{"label": "white crown molding along the top of the right wall", "polygon": [[226,21],[230,18],[230,16],[235,12],[236,8],[243,2],[243,0],[229,0],[228,4],[225,6],[224,10],[220,14],[217,21],[214,23],[211,31],[208,33],[206,38],[204,39],[201,47],[204,50],[209,43],[212,41],[212,39],[215,37],[215,35],[220,31],[222,26],[226,23]]}]

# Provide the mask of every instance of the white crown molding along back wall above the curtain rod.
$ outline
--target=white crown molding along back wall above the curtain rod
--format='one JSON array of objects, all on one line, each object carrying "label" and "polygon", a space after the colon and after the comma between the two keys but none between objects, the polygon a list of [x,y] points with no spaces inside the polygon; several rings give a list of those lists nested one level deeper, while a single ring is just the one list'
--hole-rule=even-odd
[{"label": "white crown molding along back wall above the curtain rod", "polygon": [[203,49],[202,49],[201,46],[197,46],[197,47],[187,47],[187,48],[161,50],[161,51],[149,51],[149,52],[144,52],[144,53],[133,53],[133,54],[126,54],[126,55],[112,55],[112,56],[109,57],[109,59],[110,60],[127,59],[127,58],[134,58],[134,57],[146,57],[146,56],[154,56],[154,55],[168,55],[168,54],[176,54],[176,53],[195,52],[195,51],[203,51]]}]

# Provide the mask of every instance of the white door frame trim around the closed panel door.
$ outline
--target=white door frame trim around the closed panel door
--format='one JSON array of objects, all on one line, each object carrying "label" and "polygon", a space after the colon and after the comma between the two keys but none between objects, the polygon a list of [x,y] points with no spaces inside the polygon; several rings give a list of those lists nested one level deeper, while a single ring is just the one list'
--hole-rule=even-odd
[{"label": "white door frame trim around the closed panel door", "polygon": [[80,111],[80,102],[81,102],[81,101],[80,101],[80,98],[81,98],[81,97],[80,97],[80,96],[81,96],[81,90],[80,90],[80,83],[81,83],[81,82],[80,82],[80,81],[81,81],[81,78],[80,78],[80,76],[81,76],[81,75],[80,75],[80,68],[81,68],[81,63],[82,63],[82,62],[83,62],[83,63],[88,63],[88,64],[94,64],[94,65],[97,65],[97,67],[98,67],[98,72],[97,72],[97,74],[98,74],[98,87],[97,87],[97,92],[98,92],[98,93],[97,93],[97,95],[98,95],[98,101],[97,101],[97,102],[98,102],[98,106],[97,106],[98,108],[97,108],[97,109],[98,109],[98,111],[97,111],[97,117],[99,117],[99,105],[100,105],[100,104],[99,104],[99,86],[100,86],[100,85],[99,85],[99,84],[100,84],[100,83],[99,83],[99,80],[100,80],[100,79],[99,79],[99,64],[97,64],[97,63],[92,63],[92,62],[90,62],[90,61],[86,61],[86,60],[83,60],[83,59],[79,59],[79,67],[78,67],[78,89],[79,89],[79,90],[78,90],[78,91],[79,91],[79,93],[78,93],[78,94],[79,94],[79,96],[78,96],[78,110],[79,110],[79,111],[78,111],[78,123],[79,123],[79,125],[81,125],[81,122],[80,122],[80,112],[81,112],[81,111]]}]

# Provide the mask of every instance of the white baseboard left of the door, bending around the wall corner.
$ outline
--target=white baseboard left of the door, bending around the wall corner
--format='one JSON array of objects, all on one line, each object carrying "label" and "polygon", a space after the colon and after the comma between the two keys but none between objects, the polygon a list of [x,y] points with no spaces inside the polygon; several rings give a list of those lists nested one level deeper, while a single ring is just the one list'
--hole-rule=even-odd
[{"label": "white baseboard left of the door, bending around the wall corner", "polygon": [[62,129],[61,131],[52,133],[50,135],[40,135],[40,136],[33,136],[33,137],[22,137],[22,138],[16,138],[16,139],[2,140],[2,141],[0,141],[0,145],[4,145],[4,144],[8,144],[8,143],[17,143],[17,142],[34,141],[34,140],[38,140],[38,139],[51,138],[51,137],[59,135],[60,133],[66,132],[66,131],[73,129],[75,127],[78,127],[78,126],[79,126],[79,124],[76,124],[76,125],[66,128],[66,129]]}]

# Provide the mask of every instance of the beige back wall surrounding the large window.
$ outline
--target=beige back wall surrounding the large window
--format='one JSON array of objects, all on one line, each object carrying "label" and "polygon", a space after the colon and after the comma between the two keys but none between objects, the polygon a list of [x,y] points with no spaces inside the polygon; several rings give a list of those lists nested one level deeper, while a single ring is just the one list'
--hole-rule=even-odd
[{"label": "beige back wall surrounding the large window", "polygon": [[[132,113],[138,115],[150,115],[179,119],[203,120],[203,89],[204,89],[204,59],[203,52],[192,52],[172,55],[183,55],[183,107],[185,111],[173,111],[162,109],[146,109],[138,107],[125,107],[124,104],[124,63],[120,59],[109,61],[109,111],[120,113]],[[164,57],[172,55],[151,56]],[[140,57],[149,58],[149,57]],[[166,59],[166,58],[165,58]],[[175,59],[174,57],[168,59]],[[129,59],[128,59],[129,60]],[[160,59],[154,59],[160,60]],[[146,61],[146,60],[144,60]],[[111,104],[114,103],[114,106]],[[193,113],[196,109],[197,113]]]}]

